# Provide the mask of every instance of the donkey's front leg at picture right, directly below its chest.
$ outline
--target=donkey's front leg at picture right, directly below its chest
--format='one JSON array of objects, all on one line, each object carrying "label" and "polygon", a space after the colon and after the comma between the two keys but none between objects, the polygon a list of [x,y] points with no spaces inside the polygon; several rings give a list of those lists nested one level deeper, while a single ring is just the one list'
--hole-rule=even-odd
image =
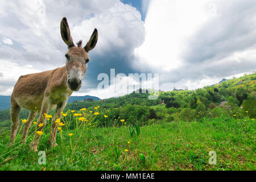
[{"label": "donkey's front leg at picture right, directly below its chest", "polygon": [[63,102],[60,102],[60,104],[57,105],[54,117],[52,119],[52,127],[51,127],[51,134],[49,137],[49,144],[52,147],[56,147],[57,143],[56,142],[56,133],[57,133],[57,126],[56,126],[56,119],[61,118],[61,112],[64,110],[68,100],[65,100]]}]

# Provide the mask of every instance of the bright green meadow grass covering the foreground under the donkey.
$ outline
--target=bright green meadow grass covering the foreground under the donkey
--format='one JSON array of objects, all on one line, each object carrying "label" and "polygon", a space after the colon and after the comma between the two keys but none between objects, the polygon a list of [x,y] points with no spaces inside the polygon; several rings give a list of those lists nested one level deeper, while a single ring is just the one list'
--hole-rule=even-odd
[{"label": "bright green meadow grass covering the foreground under the donkey", "polygon": [[[27,144],[6,148],[7,131],[0,135],[0,170],[255,170],[255,121],[249,121],[250,139],[239,122],[216,118],[154,124],[141,127],[134,137],[127,126],[98,127],[86,130],[80,140],[79,132],[71,138],[63,131],[56,148],[48,145],[46,127],[39,144],[39,151],[46,151],[45,165],[38,164],[38,152],[29,150],[32,135]],[[73,154],[70,138],[72,147],[78,141]],[[209,151],[216,151],[216,165],[208,163]]]}]

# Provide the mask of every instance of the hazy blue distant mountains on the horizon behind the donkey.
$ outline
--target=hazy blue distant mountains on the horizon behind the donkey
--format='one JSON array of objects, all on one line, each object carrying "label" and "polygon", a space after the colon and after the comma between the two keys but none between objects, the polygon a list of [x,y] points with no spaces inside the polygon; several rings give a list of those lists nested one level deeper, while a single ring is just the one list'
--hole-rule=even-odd
[{"label": "hazy blue distant mountains on the horizon behind the donkey", "polygon": [[[0,96],[0,110],[5,110],[5,109],[10,109],[11,107],[11,102],[10,102],[11,96]],[[71,96],[68,99],[68,103],[73,102],[73,101],[84,101],[88,98],[92,98],[93,101],[100,100],[98,97],[94,96]]]}]

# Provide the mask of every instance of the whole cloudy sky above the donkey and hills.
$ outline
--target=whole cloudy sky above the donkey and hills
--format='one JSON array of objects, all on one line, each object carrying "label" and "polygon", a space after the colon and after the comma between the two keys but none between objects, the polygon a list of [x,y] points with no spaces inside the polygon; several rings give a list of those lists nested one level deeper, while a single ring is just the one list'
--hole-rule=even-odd
[{"label": "whole cloudy sky above the donkey and hills", "polygon": [[[60,21],[67,17],[83,46],[98,43],[74,96],[119,96],[98,90],[100,73],[159,73],[159,88],[196,89],[256,68],[255,0],[9,0],[0,1],[0,95],[20,75],[65,64]],[[120,81],[129,77],[123,75]]]}]

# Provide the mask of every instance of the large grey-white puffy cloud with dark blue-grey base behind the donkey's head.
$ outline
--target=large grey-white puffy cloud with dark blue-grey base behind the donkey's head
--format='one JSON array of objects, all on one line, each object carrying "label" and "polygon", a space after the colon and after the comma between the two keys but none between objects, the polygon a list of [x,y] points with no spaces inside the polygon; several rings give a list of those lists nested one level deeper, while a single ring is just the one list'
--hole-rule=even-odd
[{"label": "large grey-white puffy cloud with dark blue-grey base behind the donkey's head", "polygon": [[[97,46],[89,54],[92,61],[83,81],[86,86],[80,92],[96,88],[97,75],[110,68],[129,71],[133,50],[144,41],[141,14],[135,7],[119,0],[1,1],[0,40],[5,44],[0,44],[0,61],[1,65],[15,64],[15,68],[6,68],[13,75],[3,72],[4,79],[16,81],[22,74],[65,64],[67,46],[60,36],[60,21],[64,16],[74,42],[82,39],[85,46],[94,28],[99,32]],[[14,44],[10,47],[11,43]],[[16,69],[23,71],[16,72]],[[6,89],[2,93],[11,94]]]}]

